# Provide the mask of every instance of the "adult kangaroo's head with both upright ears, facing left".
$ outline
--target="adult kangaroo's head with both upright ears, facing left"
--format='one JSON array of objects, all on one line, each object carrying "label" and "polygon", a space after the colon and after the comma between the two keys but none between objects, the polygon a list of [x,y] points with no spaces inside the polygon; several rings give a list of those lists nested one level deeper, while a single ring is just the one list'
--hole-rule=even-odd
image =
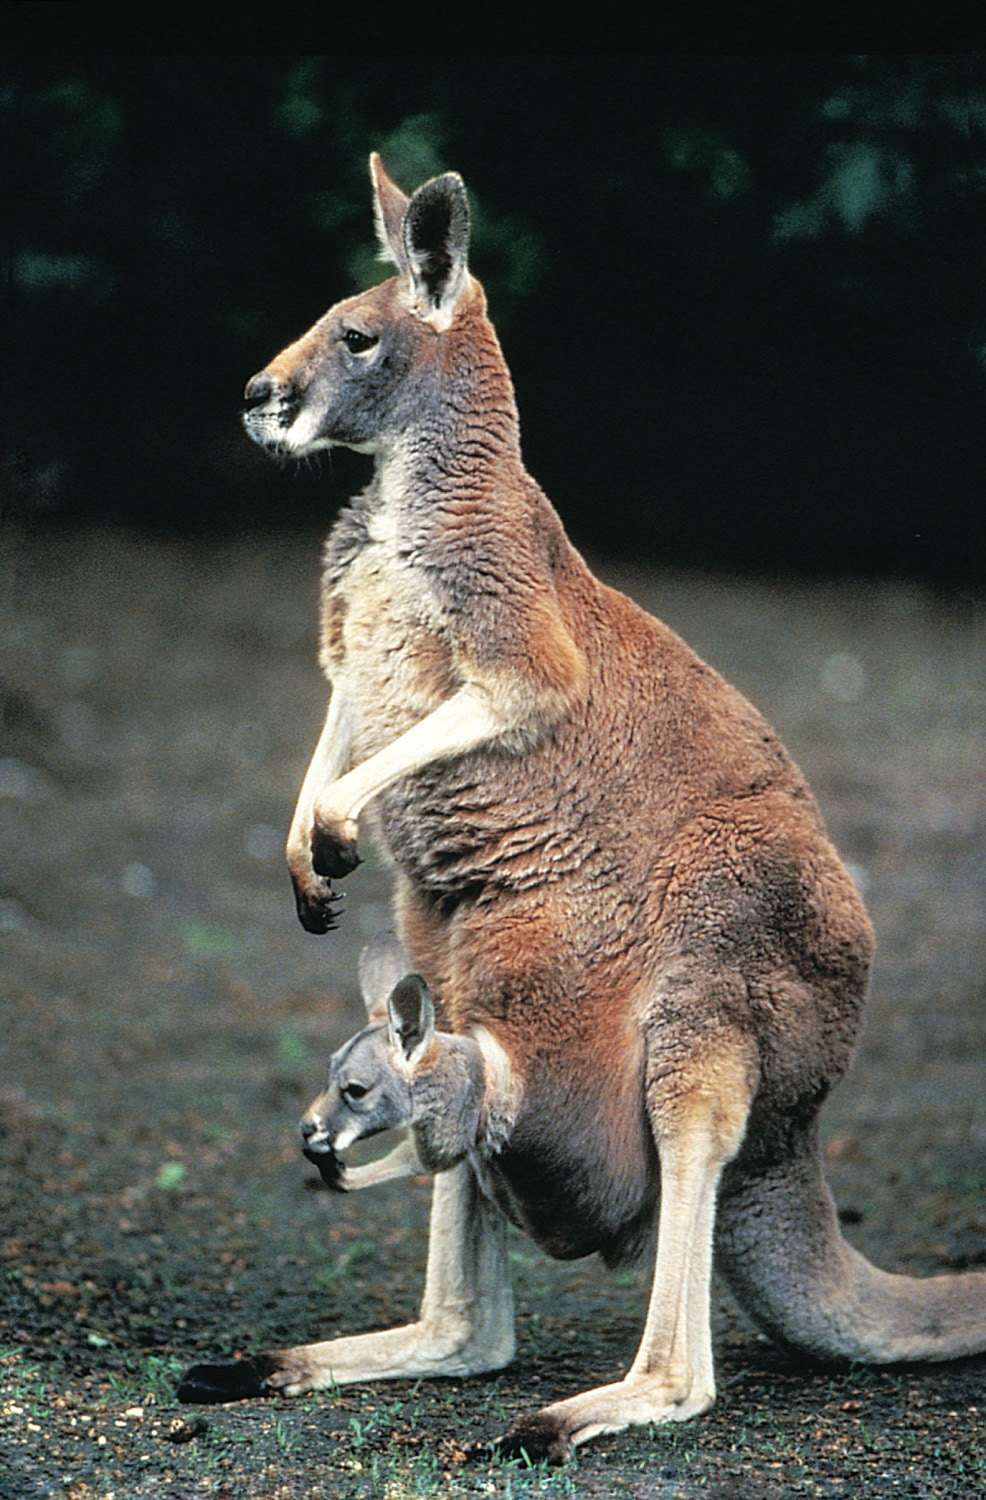
[{"label": "adult kangaroo's head with both upright ears, facing left", "polygon": [[434,405],[449,332],[470,302],[470,214],[462,178],[432,177],[410,198],[371,158],[383,254],[398,274],[332,308],[246,386],[243,423],[261,447],[302,458],[341,444],[393,452]]}]

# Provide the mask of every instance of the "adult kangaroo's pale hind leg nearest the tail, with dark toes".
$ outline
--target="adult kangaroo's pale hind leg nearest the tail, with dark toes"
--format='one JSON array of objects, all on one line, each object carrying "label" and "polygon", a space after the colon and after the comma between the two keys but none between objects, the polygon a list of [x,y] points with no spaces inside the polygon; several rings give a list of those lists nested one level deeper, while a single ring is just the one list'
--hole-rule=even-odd
[{"label": "adult kangaroo's pale hind leg nearest the tail, with dark toes", "polygon": [[681,1056],[648,1036],[647,1108],[660,1162],[657,1258],[644,1336],[626,1377],[519,1418],[504,1455],[563,1462],[570,1448],[647,1422],[681,1422],[716,1395],[710,1282],[716,1192],[756,1086],[747,1038],[714,1028]]}]

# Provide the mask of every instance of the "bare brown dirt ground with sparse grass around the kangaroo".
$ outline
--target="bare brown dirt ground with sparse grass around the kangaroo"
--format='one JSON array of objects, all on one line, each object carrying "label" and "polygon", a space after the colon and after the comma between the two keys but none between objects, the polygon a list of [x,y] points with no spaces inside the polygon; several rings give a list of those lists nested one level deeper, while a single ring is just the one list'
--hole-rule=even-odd
[{"label": "bare brown dirt ground with sparse grass around the kangaroo", "polygon": [[[812,1370],[716,1305],[720,1400],[555,1472],[462,1464],[618,1377],[647,1268],[519,1234],[503,1374],[180,1407],[195,1360],[402,1320],[428,1185],[320,1190],[297,1118],[360,1022],[380,862],[299,927],[282,843],[324,694],[318,538],[3,536],[0,1497],[986,1491],[986,1359]],[[612,574],[611,574],[612,576]],[[909,586],[617,579],[774,720],[864,888],[869,1029],[827,1108],[846,1234],[986,1264],[986,608]]]}]

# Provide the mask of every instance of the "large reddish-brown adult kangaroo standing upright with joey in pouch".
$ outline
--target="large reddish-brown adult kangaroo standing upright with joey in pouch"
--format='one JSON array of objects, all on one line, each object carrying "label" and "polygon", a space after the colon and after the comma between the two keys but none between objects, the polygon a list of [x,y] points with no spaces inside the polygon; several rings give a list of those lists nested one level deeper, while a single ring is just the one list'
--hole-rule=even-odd
[{"label": "large reddish-brown adult kangaroo standing upright with joey in pouch", "polygon": [[[611,1264],[657,1226],[627,1374],[518,1416],[506,1454],[561,1461],[705,1412],[713,1257],[761,1328],[813,1359],[986,1350],[984,1274],[888,1275],[839,1232],[818,1112],[854,1048],[873,936],[801,772],[740,693],[593,576],[527,474],[462,180],[408,198],[377,156],[371,174],[396,274],[246,387],[270,454],[375,459],[326,546],[332,693],[288,866],[303,926],[326,932],[372,820],[408,968],[479,1050],[495,1142],[435,1176],[417,1322],[200,1366],[183,1394],[504,1365],[506,1220]],[[428,1048],[399,1035],[387,1066],[414,1092]]]}]

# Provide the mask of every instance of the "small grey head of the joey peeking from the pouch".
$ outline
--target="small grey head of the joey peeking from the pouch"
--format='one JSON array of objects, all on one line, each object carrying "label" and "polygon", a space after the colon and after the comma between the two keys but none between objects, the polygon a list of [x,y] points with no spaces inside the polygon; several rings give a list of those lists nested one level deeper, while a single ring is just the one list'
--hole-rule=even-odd
[{"label": "small grey head of the joey peeking from the pouch", "polygon": [[428,986],[408,974],[390,992],[386,1023],[359,1032],[333,1054],[329,1083],[302,1119],[303,1150],[320,1170],[356,1140],[414,1119],[414,1076],[435,1032]]}]

